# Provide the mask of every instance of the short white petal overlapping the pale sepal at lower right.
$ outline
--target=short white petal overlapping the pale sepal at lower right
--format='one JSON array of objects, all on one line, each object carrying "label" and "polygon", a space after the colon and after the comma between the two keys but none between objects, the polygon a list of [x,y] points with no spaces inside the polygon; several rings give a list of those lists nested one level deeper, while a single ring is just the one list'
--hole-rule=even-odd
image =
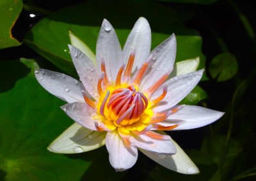
[{"label": "short white petal overlapping the pale sepal at lower right", "polygon": [[176,148],[170,140],[156,140],[143,134],[130,137],[130,141],[134,143],[136,147],[151,152],[157,152],[158,154],[175,154]]}]

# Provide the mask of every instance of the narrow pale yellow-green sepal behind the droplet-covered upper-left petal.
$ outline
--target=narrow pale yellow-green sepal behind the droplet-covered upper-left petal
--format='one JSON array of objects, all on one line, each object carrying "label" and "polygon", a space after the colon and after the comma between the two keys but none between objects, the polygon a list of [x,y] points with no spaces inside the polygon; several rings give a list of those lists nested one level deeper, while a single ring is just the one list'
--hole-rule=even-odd
[{"label": "narrow pale yellow-green sepal behind the droplet-covered upper-left petal", "polygon": [[72,31],[69,31],[68,34],[71,45],[81,50],[81,52],[83,52],[83,54],[86,55],[93,62],[93,64],[96,64],[96,57],[92,50],[80,38],[72,33]]}]

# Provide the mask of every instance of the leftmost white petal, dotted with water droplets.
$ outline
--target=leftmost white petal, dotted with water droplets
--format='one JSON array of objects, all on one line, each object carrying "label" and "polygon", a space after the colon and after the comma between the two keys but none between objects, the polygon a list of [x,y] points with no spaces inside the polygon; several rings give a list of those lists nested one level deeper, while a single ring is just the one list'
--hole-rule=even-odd
[{"label": "leftmost white petal, dotted with water droplets", "polygon": [[81,92],[81,90],[85,90],[84,86],[75,78],[47,69],[36,69],[35,77],[46,91],[63,101],[67,101],[68,103],[84,102]]}]

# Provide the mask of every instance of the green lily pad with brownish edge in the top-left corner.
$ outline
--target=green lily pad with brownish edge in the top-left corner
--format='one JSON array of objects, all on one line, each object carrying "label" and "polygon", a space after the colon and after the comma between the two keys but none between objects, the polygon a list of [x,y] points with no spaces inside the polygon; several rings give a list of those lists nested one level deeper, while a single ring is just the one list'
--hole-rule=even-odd
[{"label": "green lily pad with brownish edge in the top-left corner", "polygon": [[22,10],[22,0],[1,0],[0,1],[0,49],[20,45],[12,36],[12,27]]}]

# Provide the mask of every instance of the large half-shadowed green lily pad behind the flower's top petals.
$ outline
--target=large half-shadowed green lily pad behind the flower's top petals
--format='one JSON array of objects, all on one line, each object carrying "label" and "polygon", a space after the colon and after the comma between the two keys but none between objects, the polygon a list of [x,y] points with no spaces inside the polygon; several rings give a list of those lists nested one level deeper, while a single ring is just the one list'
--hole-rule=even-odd
[{"label": "large half-shadowed green lily pad behind the flower's top petals", "polygon": [[[176,17],[175,10],[157,2],[87,1],[42,19],[26,35],[24,42],[58,68],[74,75],[74,69],[67,63],[71,63],[67,47],[70,44],[69,30],[95,52],[100,25],[103,18],[107,18],[115,27],[120,43],[124,46],[134,23],[141,15],[150,23],[152,48],[175,33],[178,42],[177,61],[199,56],[199,69],[204,68],[205,57],[198,32],[185,27]],[[206,76],[203,79],[205,78]]]}]

